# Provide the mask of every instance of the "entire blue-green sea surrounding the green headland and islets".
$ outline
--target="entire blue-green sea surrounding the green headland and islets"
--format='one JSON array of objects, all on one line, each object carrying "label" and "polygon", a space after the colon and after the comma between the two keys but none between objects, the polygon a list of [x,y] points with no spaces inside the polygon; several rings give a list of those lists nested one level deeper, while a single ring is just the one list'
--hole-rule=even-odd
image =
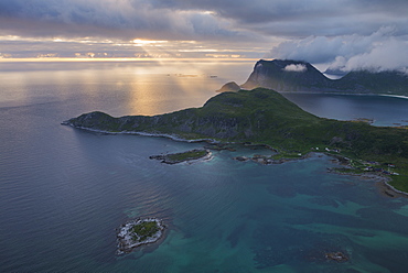
[{"label": "entire blue-green sea surrounding the green headland and islets", "polygon": [[[62,125],[94,110],[160,114],[200,107],[251,62],[0,63],[0,272],[406,272],[408,199],[329,173],[313,154],[280,165],[236,145],[193,164],[150,155],[201,149],[164,138]],[[408,123],[408,100],[287,94],[325,118]],[[118,228],[157,217],[163,238],[117,254]],[[344,253],[347,261],[328,260]]]}]

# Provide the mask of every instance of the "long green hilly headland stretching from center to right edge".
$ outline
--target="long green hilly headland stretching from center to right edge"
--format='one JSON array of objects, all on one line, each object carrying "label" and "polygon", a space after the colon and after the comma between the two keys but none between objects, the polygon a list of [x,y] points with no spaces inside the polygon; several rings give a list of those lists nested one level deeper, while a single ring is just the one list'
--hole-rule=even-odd
[{"label": "long green hilly headland stretching from center to right edge", "polygon": [[305,112],[277,91],[256,88],[222,92],[201,108],[171,113],[114,118],[89,112],[64,121],[74,128],[160,135],[186,141],[266,144],[279,155],[302,157],[311,151],[335,155],[350,165],[342,173],[369,172],[393,177],[390,185],[408,192],[408,131],[358,121],[337,121]]}]

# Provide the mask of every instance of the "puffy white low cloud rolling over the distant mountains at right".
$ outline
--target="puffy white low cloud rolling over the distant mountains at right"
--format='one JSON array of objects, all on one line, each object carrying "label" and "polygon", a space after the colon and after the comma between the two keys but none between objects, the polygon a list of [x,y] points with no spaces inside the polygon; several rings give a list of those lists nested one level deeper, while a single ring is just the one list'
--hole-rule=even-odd
[{"label": "puffy white low cloud rolling over the distant mountains at right", "polygon": [[400,69],[408,66],[408,44],[394,36],[395,28],[380,28],[371,35],[310,36],[273,47],[269,57],[330,64],[334,70]]}]

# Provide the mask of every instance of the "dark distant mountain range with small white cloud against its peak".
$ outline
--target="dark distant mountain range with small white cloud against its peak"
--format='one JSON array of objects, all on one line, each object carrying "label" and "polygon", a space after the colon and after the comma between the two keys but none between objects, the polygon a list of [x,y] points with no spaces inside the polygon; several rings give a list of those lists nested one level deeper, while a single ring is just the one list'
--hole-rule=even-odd
[{"label": "dark distant mountain range with small white cloud against its peak", "polygon": [[408,76],[396,70],[357,70],[340,79],[325,77],[311,64],[299,61],[258,61],[245,89],[256,87],[277,91],[391,94],[408,96]]}]

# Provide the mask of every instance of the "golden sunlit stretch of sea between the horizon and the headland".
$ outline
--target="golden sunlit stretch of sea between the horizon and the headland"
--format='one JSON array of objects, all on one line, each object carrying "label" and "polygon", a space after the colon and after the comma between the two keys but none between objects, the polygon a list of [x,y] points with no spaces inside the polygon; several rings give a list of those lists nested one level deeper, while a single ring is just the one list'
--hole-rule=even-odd
[{"label": "golden sunlit stretch of sea between the horizon and the headland", "polygon": [[85,98],[80,101],[84,108],[122,116],[200,107],[226,81],[244,83],[253,63],[37,63],[29,66],[19,63],[8,67],[0,63],[3,70],[0,73],[0,107],[75,99],[73,96],[79,95]]}]

